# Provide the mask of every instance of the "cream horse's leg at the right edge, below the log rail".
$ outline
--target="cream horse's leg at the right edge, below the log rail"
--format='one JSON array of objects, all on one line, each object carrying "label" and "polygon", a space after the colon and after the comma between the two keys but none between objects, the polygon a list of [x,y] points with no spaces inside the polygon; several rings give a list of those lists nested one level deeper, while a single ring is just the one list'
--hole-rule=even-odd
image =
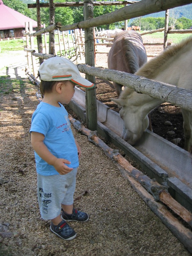
[{"label": "cream horse's leg at the right edge, below the log rail", "polygon": [[185,137],[185,150],[190,151],[192,145],[192,112],[181,108],[183,115],[183,130]]}]

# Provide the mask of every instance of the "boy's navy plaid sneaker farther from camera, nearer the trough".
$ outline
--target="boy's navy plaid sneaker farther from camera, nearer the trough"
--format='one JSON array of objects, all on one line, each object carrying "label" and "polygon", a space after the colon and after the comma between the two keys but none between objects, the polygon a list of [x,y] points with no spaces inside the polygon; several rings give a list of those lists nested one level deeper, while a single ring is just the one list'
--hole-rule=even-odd
[{"label": "boy's navy plaid sneaker farther from camera, nearer the trough", "polygon": [[73,208],[72,214],[67,214],[66,212],[62,211],[61,218],[67,221],[81,221],[85,222],[89,220],[89,215],[86,212],[78,211],[77,209]]}]

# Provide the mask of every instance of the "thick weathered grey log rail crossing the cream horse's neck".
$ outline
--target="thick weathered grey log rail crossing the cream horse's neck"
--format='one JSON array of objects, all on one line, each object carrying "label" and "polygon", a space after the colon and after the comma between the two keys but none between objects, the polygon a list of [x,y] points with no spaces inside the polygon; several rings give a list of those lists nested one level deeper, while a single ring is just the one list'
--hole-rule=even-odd
[{"label": "thick weathered grey log rail crossing the cream horse's neck", "polygon": [[77,67],[80,72],[122,84],[136,92],[148,94],[153,98],[164,100],[180,108],[192,111],[191,90],[113,69],[89,67],[84,64],[78,64]]}]

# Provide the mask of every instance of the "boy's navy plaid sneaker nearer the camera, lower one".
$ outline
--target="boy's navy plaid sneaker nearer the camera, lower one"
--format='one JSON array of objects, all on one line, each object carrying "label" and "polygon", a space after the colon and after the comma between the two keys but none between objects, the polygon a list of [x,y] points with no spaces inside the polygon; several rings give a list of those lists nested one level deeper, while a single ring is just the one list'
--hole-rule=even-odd
[{"label": "boy's navy plaid sneaker nearer the camera, lower one", "polygon": [[71,228],[64,220],[62,220],[57,226],[51,222],[50,229],[53,233],[64,240],[72,240],[77,235],[75,230]]}]

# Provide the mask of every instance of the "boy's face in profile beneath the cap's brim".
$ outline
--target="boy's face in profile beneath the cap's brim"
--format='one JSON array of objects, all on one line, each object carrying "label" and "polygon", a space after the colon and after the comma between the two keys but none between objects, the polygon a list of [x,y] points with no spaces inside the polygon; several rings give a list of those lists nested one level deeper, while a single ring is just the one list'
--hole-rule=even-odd
[{"label": "boy's face in profile beneath the cap's brim", "polygon": [[61,81],[62,82],[62,93],[60,103],[68,104],[69,101],[73,98],[75,93],[75,84],[71,81]]}]

